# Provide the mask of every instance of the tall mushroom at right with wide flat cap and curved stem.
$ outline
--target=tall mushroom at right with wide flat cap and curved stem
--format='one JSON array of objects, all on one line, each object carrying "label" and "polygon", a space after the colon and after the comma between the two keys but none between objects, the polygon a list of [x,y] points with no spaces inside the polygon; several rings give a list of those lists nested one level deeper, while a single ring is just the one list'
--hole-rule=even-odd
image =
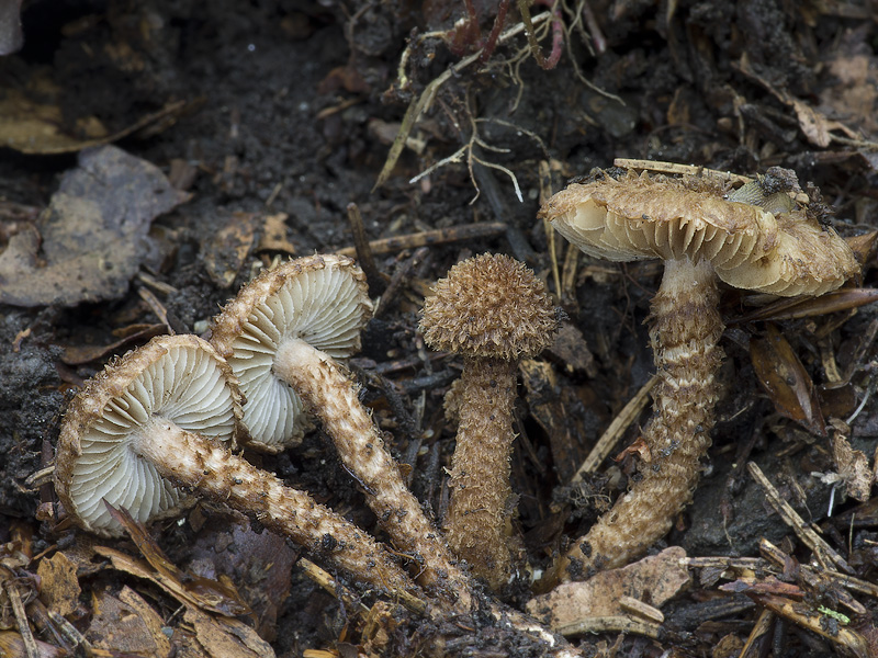
[{"label": "tall mushroom at right with wide flat cap and curved stem", "polygon": [[759,181],[725,195],[707,178],[601,173],[552,196],[540,216],[589,256],[665,261],[650,315],[661,377],[643,435],[650,461],[631,491],[556,563],[543,583],[551,587],[627,564],[664,535],[688,502],[719,397],[714,374],[723,352],[717,343],[724,325],[717,279],[774,295],[815,296],[856,275],[859,265],[832,228]]}]

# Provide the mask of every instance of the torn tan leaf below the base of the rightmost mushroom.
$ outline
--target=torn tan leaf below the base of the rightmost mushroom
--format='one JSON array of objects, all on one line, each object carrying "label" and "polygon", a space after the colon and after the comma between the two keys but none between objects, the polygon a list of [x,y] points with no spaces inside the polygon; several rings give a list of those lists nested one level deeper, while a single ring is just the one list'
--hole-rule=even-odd
[{"label": "torn tan leaf below the base of the rightmost mushroom", "polygon": [[689,585],[689,571],[680,566],[685,557],[683,548],[672,546],[621,569],[601,571],[590,580],[560,585],[531,599],[527,610],[563,634],[587,617],[628,614],[620,604],[622,597],[658,608]]}]

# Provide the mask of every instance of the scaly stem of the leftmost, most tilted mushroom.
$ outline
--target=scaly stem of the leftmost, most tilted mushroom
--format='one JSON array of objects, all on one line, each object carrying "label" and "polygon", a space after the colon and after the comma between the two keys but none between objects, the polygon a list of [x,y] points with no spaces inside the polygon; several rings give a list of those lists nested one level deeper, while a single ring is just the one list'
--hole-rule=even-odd
[{"label": "scaly stem of the leftmost, most tilted mushroom", "polygon": [[408,575],[368,533],[200,434],[154,418],[133,450],[169,480],[249,514],[339,569],[403,599],[416,591]]}]

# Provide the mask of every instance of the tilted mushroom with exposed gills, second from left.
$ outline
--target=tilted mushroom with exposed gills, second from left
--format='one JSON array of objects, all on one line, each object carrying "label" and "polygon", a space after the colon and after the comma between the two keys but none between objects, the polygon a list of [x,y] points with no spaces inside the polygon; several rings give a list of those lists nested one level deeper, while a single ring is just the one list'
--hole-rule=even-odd
[{"label": "tilted mushroom with exposed gills, second from left", "polygon": [[[250,383],[244,392],[252,417],[275,413],[262,407],[283,398],[279,392],[292,386],[323,422],[397,549],[413,555],[419,581],[450,598],[460,597],[466,605],[462,571],[406,488],[360,402],[358,386],[333,359],[359,347],[359,331],[371,309],[365,277],[353,260],[300,258],[262,272],[241,288],[214,319],[211,342],[235,374]],[[274,393],[259,399],[252,394],[256,389]],[[282,413],[272,419],[285,423]],[[258,434],[256,439],[264,442]]]}]

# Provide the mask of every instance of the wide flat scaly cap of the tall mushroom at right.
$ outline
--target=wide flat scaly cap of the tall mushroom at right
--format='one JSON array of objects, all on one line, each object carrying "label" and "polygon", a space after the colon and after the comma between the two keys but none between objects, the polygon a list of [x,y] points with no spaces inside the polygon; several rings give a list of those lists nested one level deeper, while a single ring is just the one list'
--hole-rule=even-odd
[{"label": "wide flat scaly cap of the tall mushroom at right", "polygon": [[708,260],[729,285],[775,295],[822,295],[859,272],[832,228],[791,200],[788,207],[773,213],[784,204],[728,201],[719,184],[629,173],[571,184],[540,216],[589,256]]}]

